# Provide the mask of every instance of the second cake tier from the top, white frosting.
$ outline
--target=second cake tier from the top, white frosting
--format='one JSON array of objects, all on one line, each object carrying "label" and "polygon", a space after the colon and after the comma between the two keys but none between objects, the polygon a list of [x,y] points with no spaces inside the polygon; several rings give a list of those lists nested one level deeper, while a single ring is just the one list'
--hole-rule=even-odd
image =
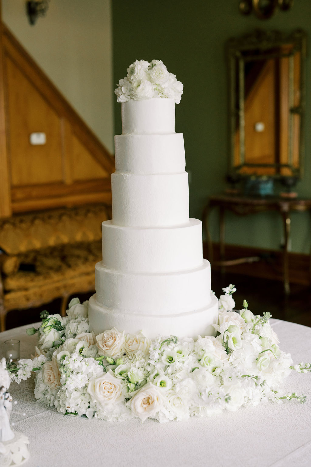
[{"label": "second cake tier from the top, white frosting", "polygon": [[117,134],[115,136],[116,172],[169,174],[185,170],[182,133]]}]

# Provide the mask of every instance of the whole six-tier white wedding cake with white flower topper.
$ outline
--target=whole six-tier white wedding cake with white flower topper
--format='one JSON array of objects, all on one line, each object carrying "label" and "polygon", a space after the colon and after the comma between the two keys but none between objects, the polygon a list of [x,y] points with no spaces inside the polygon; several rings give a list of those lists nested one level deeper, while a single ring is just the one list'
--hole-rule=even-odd
[{"label": "whole six-tier white wedding cake with white flower topper", "polygon": [[[166,71],[162,62],[141,62]],[[168,91],[152,86],[151,95],[150,78],[132,77],[129,70],[116,90],[123,134],[115,136],[112,220],[102,223],[90,330],[97,335],[115,327],[151,339],[211,335],[218,300],[203,259],[202,223],[189,219],[183,135],[175,133],[182,85],[172,75]]]}]

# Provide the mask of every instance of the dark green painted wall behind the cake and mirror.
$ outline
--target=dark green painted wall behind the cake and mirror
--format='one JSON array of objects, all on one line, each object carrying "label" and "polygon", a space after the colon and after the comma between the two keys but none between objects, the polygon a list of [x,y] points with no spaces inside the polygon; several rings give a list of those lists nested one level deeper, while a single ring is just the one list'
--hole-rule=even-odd
[{"label": "dark green painted wall behind the cake and mirror", "polygon": [[[211,194],[224,190],[228,166],[226,40],[255,28],[291,32],[296,28],[311,37],[311,0],[299,0],[289,12],[277,11],[269,20],[242,16],[237,0],[118,0],[112,2],[115,83],[136,59],[162,60],[184,84],[176,106],[176,132],[184,134],[190,215],[202,218]],[[311,197],[311,56],[307,57],[304,177],[297,189]],[[115,104],[115,132],[120,134],[121,105]],[[277,214],[237,218],[228,213],[226,242],[260,248],[279,248],[282,224]],[[210,230],[217,240],[217,213],[210,216]],[[292,250],[310,251],[311,219],[292,214]]]}]

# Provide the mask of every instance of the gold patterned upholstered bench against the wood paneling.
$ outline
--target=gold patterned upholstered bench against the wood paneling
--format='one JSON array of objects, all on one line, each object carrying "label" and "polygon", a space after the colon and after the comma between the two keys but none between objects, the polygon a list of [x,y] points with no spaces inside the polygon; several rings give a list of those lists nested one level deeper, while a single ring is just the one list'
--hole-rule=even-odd
[{"label": "gold patterned upholstered bench against the wood paneling", "polygon": [[0,219],[0,330],[10,310],[37,307],[95,289],[94,266],[102,258],[103,204]]}]

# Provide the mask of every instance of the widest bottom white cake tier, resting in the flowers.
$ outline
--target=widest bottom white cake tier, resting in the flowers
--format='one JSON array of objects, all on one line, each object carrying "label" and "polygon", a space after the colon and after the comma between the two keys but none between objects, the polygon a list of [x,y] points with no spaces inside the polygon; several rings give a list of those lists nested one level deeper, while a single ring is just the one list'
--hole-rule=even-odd
[{"label": "widest bottom white cake tier, resting in the flowers", "polygon": [[90,331],[95,335],[115,327],[118,331],[131,334],[142,332],[149,339],[158,335],[191,337],[211,336],[216,331],[213,324],[218,323],[218,300],[211,294],[210,303],[200,310],[180,314],[151,315],[126,313],[116,308],[99,304],[96,294],[89,299],[88,318]]}]

